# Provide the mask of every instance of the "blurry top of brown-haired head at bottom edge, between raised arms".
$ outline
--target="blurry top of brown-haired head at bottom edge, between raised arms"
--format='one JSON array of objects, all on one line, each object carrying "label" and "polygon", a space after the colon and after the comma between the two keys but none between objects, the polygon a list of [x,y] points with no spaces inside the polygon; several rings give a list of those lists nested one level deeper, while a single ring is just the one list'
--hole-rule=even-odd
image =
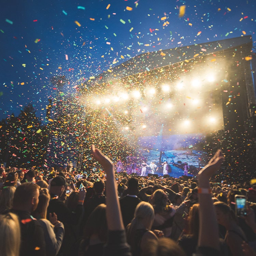
[{"label": "blurry top of brown-haired head at bottom edge, between raised arms", "polygon": [[186,256],[182,248],[170,238],[150,240],[141,256]]}]

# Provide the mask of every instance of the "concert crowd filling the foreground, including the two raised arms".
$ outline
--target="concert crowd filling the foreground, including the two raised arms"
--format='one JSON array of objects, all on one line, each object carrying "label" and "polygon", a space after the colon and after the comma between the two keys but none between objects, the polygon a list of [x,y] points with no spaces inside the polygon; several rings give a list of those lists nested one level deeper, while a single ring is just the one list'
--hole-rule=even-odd
[{"label": "concert crowd filling the foreground, including the two raised arms", "polygon": [[255,187],[210,182],[220,150],[187,180],[116,173],[91,152],[103,172],[0,168],[1,255],[256,255]]}]

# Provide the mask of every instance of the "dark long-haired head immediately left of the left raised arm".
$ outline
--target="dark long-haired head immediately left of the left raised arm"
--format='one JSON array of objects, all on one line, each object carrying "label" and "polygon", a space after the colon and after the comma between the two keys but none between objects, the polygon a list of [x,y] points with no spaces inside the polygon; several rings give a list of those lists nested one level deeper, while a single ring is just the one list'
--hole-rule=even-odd
[{"label": "dark long-haired head immediately left of the left raised arm", "polygon": [[84,227],[84,239],[105,243],[107,239],[106,205],[99,204],[89,215]]}]

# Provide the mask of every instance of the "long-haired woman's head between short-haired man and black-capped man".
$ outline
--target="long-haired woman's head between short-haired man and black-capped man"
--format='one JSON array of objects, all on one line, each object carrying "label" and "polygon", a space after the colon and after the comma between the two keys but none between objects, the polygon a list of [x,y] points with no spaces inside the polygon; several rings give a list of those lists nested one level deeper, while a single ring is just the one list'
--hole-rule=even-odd
[{"label": "long-haired woman's head between short-haired man and black-capped man", "polygon": [[39,191],[39,202],[32,215],[37,219],[46,219],[47,207],[50,201],[50,194],[47,188],[41,188]]}]

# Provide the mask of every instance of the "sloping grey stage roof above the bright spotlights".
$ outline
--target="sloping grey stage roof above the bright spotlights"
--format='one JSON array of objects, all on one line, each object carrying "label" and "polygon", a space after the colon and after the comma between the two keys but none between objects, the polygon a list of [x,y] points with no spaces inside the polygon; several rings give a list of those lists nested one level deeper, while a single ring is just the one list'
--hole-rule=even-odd
[{"label": "sloping grey stage roof above the bright spotlights", "polygon": [[143,53],[114,68],[109,69],[108,71],[101,73],[98,76],[95,76],[94,79],[87,80],[85,84],[90,86],[95,83],[107,83],[137,73],[143,73],[161,67],[173,65],[182,61],[188,61],[193,58],[225,51],[227,49],[235,48],[244,44],[248,44],[249,48],[252,49],[251,35],[183,46],[179,48],[176,47],[151,53]]}]

